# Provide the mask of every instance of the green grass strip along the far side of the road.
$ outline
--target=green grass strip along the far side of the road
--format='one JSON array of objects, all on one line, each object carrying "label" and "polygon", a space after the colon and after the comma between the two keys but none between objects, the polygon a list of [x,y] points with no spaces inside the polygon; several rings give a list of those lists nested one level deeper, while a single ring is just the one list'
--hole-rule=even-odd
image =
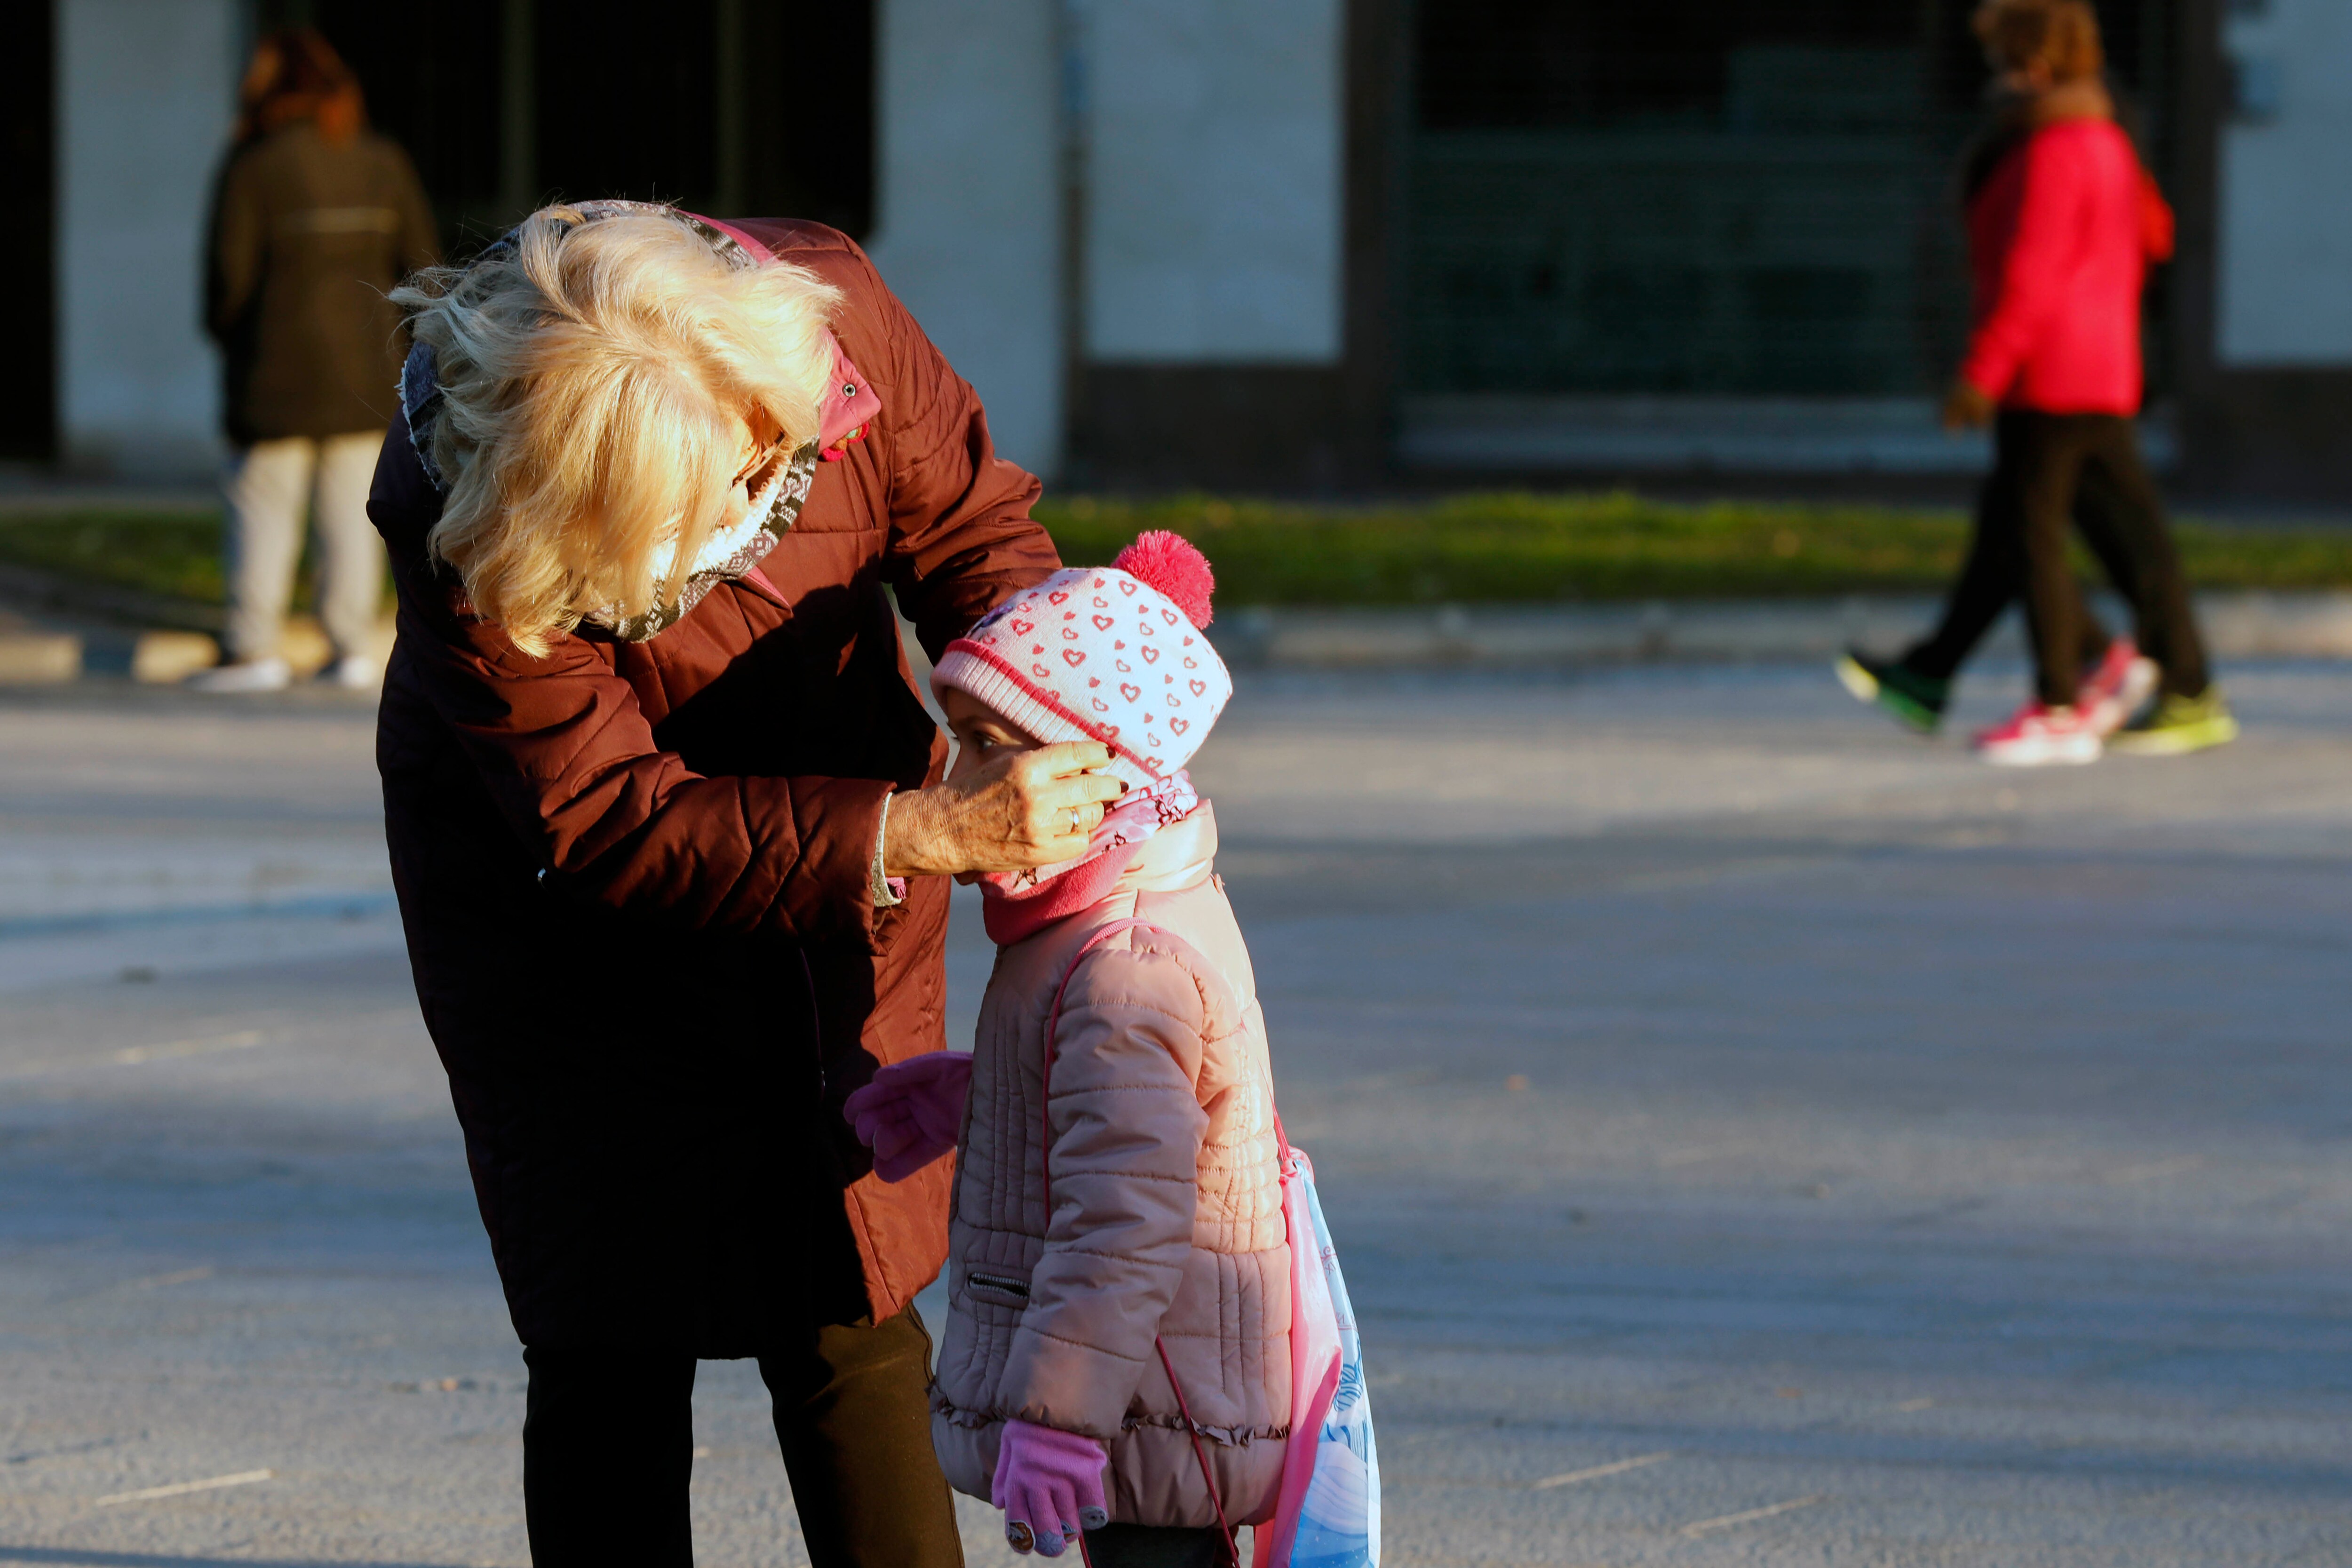
[{"label": "green grass strip along the far side of the road", "polygon": [[[1392,505],[1068,496],[1042,503],[1037,520],[1075,564],[1108,562],[1141,529],[1174,529],[1216,564],[1230,607],[1936,592],[1969,538],[1955,510],[1625,491]],[[2352,588],[2352,531],[2183,522],[2178,541],[2197,588]],[[200,604],[223,597],[219,512],[0,512],[0,562]]]}]

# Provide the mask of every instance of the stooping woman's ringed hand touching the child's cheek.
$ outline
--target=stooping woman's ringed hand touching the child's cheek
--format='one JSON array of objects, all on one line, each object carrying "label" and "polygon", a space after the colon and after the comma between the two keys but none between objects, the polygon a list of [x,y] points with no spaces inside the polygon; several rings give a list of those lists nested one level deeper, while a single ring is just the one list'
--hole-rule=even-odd
[{"label": "stooping woman's ringed hand touching the child's cheek", "polygon": [[889,802],[882,870],[891,877],[1018,872],[1075,860],[1127,783],[1101,741],[1063,741],[983,762],[929,790]]}]

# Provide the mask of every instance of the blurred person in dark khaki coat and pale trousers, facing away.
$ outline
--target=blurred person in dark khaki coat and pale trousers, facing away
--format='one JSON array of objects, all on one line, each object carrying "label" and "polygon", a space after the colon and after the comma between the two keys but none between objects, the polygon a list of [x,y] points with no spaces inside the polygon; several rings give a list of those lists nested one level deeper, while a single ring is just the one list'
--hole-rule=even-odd
[{"label": "blurred person in dark khaki coat and pale trousers, facing away", "polygon": [[397,407],[400,313],[386,301],[437,261],[433,209],[360,82],[310,28],[270,33],[238,94],[212,195],[205,329],[221,346],[228,465],[228,663],[202,691],[275,691],[303,508],[318,531],[322,672],[372,686],[383,545],[367,487]]}]

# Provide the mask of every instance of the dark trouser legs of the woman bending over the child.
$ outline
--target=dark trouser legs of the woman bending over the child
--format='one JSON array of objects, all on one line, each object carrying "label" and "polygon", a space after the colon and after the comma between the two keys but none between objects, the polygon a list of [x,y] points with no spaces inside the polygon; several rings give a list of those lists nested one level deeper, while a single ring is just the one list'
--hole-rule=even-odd
[{"label": "dark trouser legs of the woman bending over the child", "polygon": [[[522,1502],[536,1568],[689,1568],[694,1356],[529,1347]],[[931,1335],[908,1307],[760,1356],[816,1568],[962,1568],[931,1453]]]}]

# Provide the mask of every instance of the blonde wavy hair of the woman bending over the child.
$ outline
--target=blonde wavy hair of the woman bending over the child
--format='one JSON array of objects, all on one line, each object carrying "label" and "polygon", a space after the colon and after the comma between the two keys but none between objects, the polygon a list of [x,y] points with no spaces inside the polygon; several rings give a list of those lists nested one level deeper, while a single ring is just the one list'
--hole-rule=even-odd
[{"label": "blonde wavy hair of the woman bending over the child", "polygon": [[534,656],[590,614],[656,609],[724,522],[734,416],[764,409],[786,451],[816,440],[840,299],[797,266],[729,266],[659,209],[541,207],[470,268],[419,273],[393,301],[442,393],[428,550]]}]

